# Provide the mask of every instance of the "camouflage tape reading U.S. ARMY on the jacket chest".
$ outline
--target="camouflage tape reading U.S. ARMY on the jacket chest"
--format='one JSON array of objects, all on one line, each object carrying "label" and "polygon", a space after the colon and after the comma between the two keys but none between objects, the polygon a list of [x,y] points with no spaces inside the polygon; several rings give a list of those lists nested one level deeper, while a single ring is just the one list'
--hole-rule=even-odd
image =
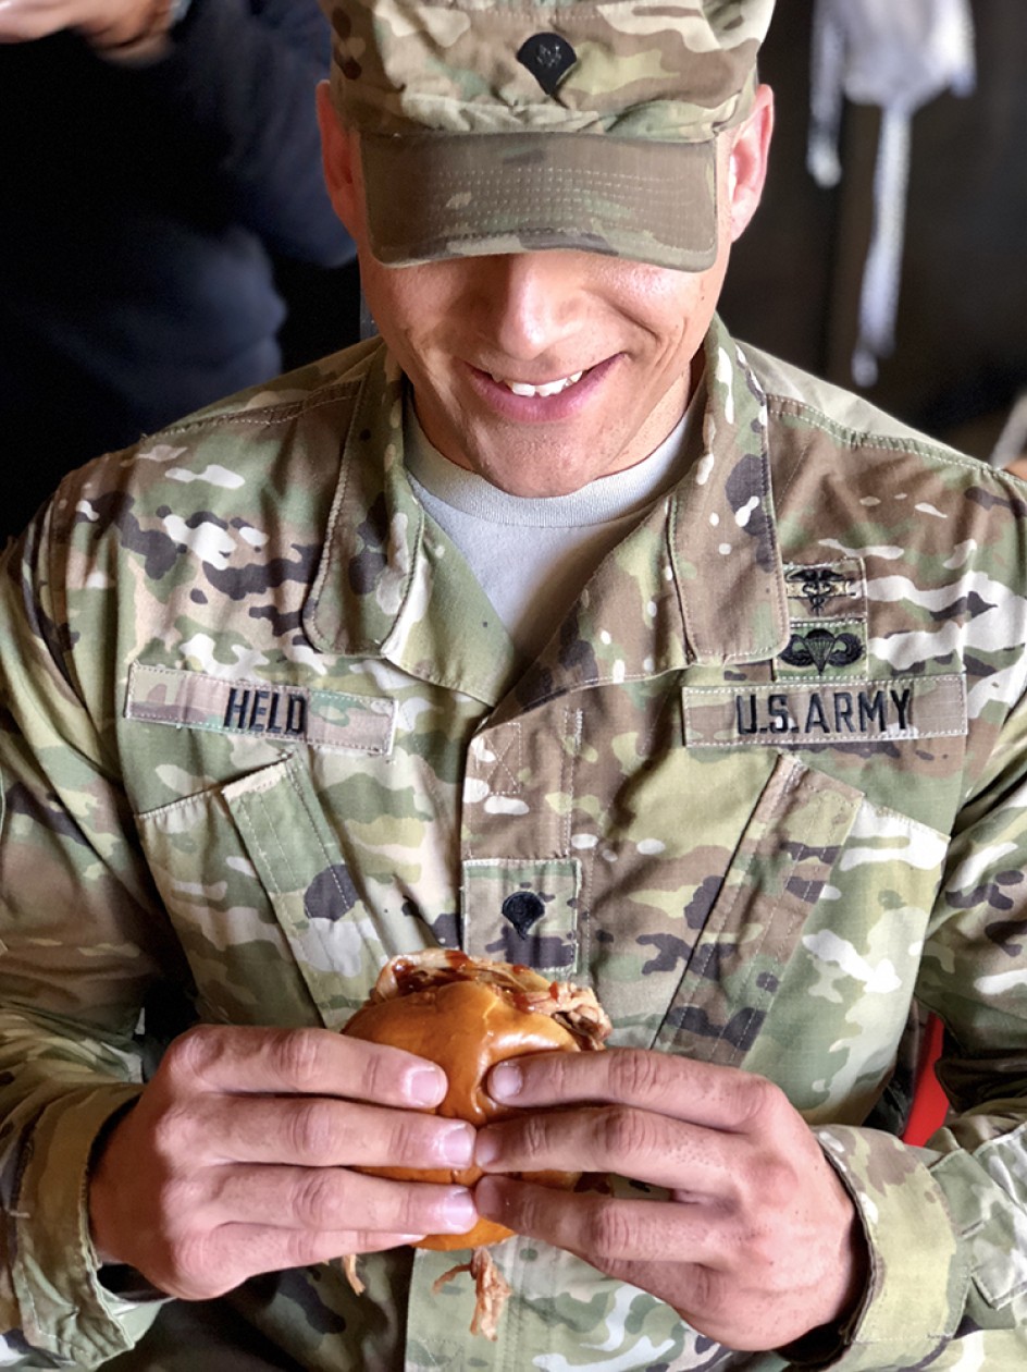
[{"label": "camouflage tape reading U.S. ARMY on the jacket chest", "polygon": [[963,676],[686,686],[687,748],[772,748],[942,738],[967,733]]}]

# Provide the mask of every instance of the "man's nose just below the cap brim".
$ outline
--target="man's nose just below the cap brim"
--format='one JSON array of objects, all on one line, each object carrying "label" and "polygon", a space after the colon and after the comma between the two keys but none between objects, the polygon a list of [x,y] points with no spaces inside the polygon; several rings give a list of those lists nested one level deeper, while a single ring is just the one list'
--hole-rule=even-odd
[{"label": "man's nose just below the cap brim", "polygon": [[488,259],[481,322],[507,357],[525,361],[542,357],[580,328],[581,295],[566,257],[548,251]]}]

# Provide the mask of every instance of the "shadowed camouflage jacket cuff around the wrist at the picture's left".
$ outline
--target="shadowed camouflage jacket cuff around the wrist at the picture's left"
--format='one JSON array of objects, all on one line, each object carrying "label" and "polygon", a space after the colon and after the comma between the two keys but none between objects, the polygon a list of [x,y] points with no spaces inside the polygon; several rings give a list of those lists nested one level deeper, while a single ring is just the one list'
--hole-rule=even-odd
[{"label": "shadowed camouflage jacket cuff around the wrist at the picture's left", "polygon": [[99,1277],[86,1177],[93,1143],[140,1087],[108,1085],[48,1106],[33,1132],[18,1188],[12,1280],[22,1334],[75,1367],[130,1349],[163,1299],[128,1301]]}]

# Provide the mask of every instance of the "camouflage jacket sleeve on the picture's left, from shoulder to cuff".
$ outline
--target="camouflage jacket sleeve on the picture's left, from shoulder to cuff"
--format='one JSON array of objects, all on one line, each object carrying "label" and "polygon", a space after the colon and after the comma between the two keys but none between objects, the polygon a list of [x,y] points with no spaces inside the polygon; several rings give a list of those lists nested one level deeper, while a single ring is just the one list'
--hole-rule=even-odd
[{"label": "camouflage jacket sleeve on the picture's left, from shoulder to cuff", "polygon": [[159,1305],[100,1284],[85,1181],[96,1136],[140,1089],[133,1030],[167,933],[70,650],[92,643],[106,679],[110,606],[97,578],[92,622],[69,617],[73,543],[55,523],[0,564],[0,1362],[88,1368]]}]

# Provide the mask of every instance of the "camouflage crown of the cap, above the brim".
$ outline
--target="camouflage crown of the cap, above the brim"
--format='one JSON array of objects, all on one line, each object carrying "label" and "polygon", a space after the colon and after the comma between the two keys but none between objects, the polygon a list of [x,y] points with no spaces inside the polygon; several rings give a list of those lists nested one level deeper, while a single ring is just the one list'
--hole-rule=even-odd
[{"label": "camouflage crown of the cap, above the brim", "polygon": [[[705,143],[738,115],[773,0],[322,0],[322,8],[335,34],[332,95],[362,132]],[[539,34],[573,49],[558,96],[536,71],[561,64],[559,44],[536,62],[521,55]]]}]

